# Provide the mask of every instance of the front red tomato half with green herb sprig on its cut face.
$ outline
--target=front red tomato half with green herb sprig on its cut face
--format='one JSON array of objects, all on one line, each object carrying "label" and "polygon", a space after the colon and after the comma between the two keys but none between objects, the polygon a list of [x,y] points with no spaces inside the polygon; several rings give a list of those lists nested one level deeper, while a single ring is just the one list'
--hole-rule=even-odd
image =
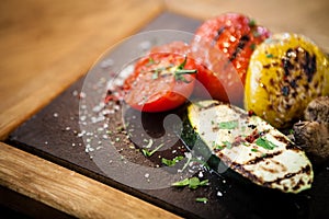
[{"label": "front red tomato half with green herb sprig on its cut face", "polygon": [[196,66],[189,46],[173,42],[139,59],[124,83],[125,102],[143,112],[169,111],[183,104],[194,89]]}]

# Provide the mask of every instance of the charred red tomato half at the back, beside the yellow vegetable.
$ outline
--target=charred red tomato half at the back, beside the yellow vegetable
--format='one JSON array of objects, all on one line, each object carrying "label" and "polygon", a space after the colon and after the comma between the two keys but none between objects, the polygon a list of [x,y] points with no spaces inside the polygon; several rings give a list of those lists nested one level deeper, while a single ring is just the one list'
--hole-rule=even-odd
[{"label": "charred red tomato half at the back, beside the yellow vegetable", "polygon": [[204,64],[197,80],[214,99],[240,102],[251,54],[269,36],[266,28],[238,13],[205,21],[192,41],[195,59]]}]

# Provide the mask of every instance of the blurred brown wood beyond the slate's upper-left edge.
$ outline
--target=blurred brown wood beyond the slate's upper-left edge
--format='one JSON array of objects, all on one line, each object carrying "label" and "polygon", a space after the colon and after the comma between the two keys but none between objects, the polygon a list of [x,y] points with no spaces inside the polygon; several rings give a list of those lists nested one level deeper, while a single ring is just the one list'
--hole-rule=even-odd
[{"label": "blurred brown wood beyond the slate's upper-left edge", "polygon": [[162,8],[159,0],[1,1],[0,139]]}]

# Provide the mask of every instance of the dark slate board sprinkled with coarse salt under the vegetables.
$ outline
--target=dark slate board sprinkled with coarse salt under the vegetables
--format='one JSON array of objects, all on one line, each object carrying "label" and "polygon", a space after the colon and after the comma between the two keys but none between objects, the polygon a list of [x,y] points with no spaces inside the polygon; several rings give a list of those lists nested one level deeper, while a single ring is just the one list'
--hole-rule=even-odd
[{"label": "dark slate board sprinkled with coarse salt under the vegetables", "polygon": [[[140,32],[180,30],[193,33],[200,24],[201,21],[166,12]],[[157,171],[163,170],[157,166],[160,164],[159,155],[173,158],[186,150],[177,141],[172,130],[161,125],[167,114],[138,114],[132,110],[123,111],[114,104],[106,111],[106,119],[102,117],[100,113],[104,113],[104,107],[99,103],[106,93],[110,72],[125,65],[128,53],[134,53],[127,50],[132,45],[138,45],[141,49],[147,47],[149,42],[146,36],[152,37],[152,33],[136,36],[138,44],[128,39],[127,44],[114,47],[86,77],[13,131],[7,141],[186,218],[326,218],[329,215],[328,163],[316,171],[313,188],[298,195],[245,185],[197,169],[197,164],[188,168],[190,171],[196,168],[193,173],[185,171],[188,173],[182,175],[194,174],[202,180],[208,178],[208,186],[195,191],[170,187],[170,182],[179,180],[181,175],[177,174],[177,170],[174,173],[164,170],[166,174],[160,172],[158,176]],[[177,32],[177,35],[190,37],[181,32]],[[166,41],[170,42],[170,37]],[[124,61],[120,62],[121,59]],[[143,124],[134,124],[134,119],[123,122],[124,115],[137,122],[140,119]],[[129,124],[125,124],[127,122]],[[132,129],[129,135],[137,145],[149,143],[144,142],[145,135],[148,135],[147,139],[152,138],[154,145],[163,141],[172,147],[146,159],[126,138],[126,130],[122,128],[124,125]],[[144,127],[138,128],[140,125]],[[196,197],[206,197],[208,203],[196,203]]]}]

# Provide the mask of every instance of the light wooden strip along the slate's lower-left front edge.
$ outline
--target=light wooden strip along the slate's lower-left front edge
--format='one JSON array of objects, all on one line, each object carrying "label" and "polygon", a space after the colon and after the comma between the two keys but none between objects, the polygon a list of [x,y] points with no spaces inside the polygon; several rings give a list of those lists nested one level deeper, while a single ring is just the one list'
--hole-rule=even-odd
[{"label": "light wooden strip along the slate's lower-left front edge", "polygon": [[5,143],[0,142],[0,151],[1,185],[71,216],[178,218],[144,200]]}]

